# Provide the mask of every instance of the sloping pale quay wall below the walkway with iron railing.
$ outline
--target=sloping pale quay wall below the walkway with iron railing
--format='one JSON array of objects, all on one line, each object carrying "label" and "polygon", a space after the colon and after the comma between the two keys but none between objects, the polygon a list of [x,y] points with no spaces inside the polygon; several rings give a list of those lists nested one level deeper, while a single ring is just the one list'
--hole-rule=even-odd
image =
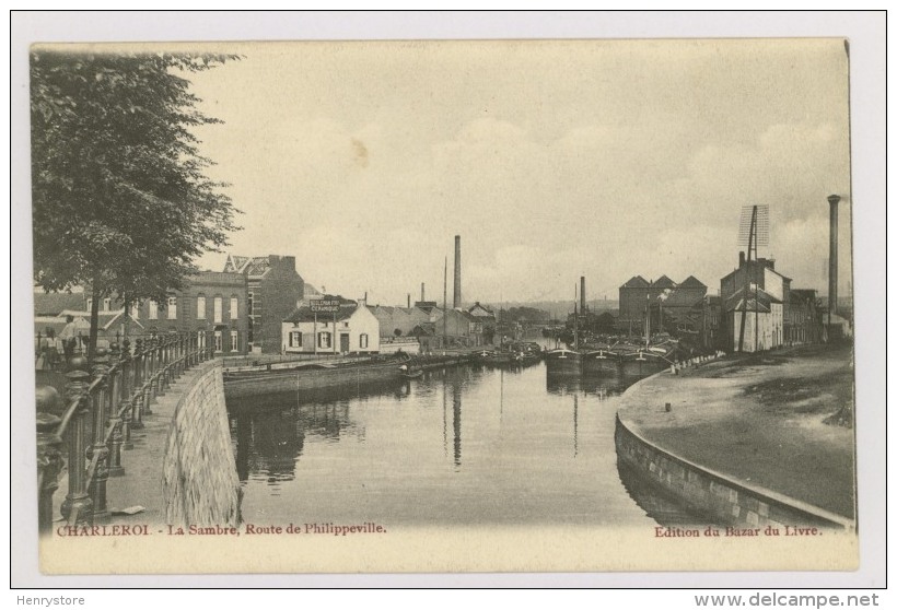
[{"label": "sloping pale quay wall below the walkway with iron railing", "polygon": [[240,523],[240,480],[231,448],[222,361],[199,374],[174,410],[162,466],[166,521],[180,526]]}]

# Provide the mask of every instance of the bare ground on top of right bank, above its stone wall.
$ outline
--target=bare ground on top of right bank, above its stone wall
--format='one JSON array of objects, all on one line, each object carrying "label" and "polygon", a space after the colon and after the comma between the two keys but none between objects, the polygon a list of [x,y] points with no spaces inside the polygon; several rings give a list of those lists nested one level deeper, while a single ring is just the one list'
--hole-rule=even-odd
[{"label": "bare ground on top of right bank, above its stone wall", "polygon": [[852,412],[852,349],[808,345],[661,373],[618,415],[646,446],[853,520]]}]

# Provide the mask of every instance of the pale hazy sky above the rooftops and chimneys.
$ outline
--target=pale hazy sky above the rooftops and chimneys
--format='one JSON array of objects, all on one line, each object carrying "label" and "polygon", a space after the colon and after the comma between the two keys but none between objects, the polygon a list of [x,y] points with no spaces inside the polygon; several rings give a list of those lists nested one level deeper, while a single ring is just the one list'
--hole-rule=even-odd
[{"label": "pale hazy sky above the rooftops and chimneys", "polygon": [[[442,300],[454,236],[465,302],[616,298],[632,275],[759,255],[827,293],[851,269],[848,59],[840,39],[263,43],[191,74],[198,130],[242,210],[226,251],[296,257],[318,290]],[[199,265],[220,270],[223,254]]]}]

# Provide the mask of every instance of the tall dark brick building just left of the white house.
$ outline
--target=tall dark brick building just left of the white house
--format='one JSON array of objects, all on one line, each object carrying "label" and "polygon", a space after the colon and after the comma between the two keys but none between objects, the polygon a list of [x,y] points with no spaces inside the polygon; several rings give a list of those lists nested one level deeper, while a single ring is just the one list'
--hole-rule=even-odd
[{"label": "tall dark brick building just left of the white house", "polygon": [[305,292],[305,282],[295,270],[295,257],[228,255],[224,272],[246,278],[249,351],[280,353],[282,322]]}]

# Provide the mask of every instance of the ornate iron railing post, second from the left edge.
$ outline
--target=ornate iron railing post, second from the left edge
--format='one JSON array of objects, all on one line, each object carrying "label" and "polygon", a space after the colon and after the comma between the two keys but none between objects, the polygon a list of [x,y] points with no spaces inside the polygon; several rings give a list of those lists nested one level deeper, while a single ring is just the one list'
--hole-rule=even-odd
[{"label": "ornate iron railing post, second from the left edge", "polygon": [[86,450],[86,434],[84,432],[84,420],[90,409],[88,396],[88,378],[90,374],[84,371],[88,367],[88,359],[74,356],[70,361],[71,371],[66,374],[69,382],[66,387],[66,398],[69,403],[78,401],[78,408],[72,414],[72,420],[68,426],[69,437],[69,493],[62,502],[62,516],[69,525],[85,523],[91,517],[92,502],[85,489],[84,460]]}]

